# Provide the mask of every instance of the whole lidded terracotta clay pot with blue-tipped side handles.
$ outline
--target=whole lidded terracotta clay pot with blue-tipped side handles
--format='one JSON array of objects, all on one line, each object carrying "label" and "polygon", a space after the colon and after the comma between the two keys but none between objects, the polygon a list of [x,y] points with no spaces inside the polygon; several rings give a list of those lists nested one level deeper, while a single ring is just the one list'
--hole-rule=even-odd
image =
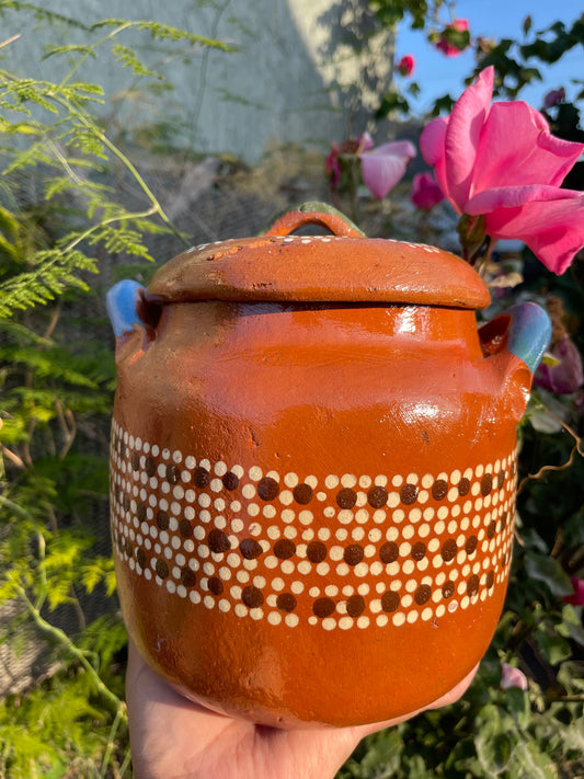
[{"label": "whole lidded terracotta clay pot with blue-tipped side handles", "polygon": [[[305,224],[332,234],[289,234]],[[533,303],[479,330],[489,302],[451,254],[301,211],[114,287],[118,593],[184,695],[350,725],[424,707],[479,662],[549,339]]]}]

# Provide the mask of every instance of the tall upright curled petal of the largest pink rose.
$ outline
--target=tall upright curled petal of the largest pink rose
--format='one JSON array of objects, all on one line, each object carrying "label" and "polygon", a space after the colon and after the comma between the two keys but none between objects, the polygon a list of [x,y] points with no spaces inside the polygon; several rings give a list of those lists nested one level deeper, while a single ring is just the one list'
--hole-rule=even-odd
[{"label": "tall upright curled petal of the largest pink rose", "polygon": [[[493,94],[493,67],[485,68],[453,106],[445,136],[445,192],[460,213],[471,191],[477,150]],[[438,180],[439,182],[439,180]]]}]

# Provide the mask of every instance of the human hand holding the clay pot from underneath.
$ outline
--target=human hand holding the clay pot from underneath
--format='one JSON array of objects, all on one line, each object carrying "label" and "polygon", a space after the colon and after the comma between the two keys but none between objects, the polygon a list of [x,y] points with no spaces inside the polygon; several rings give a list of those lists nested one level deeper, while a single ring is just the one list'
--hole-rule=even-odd
[{"label": "human hand holding the clay pot from underneath", "polygon": [[[474,668],[428,709],[454,703]],[[278,730],[218,714],[175,692],[130,641],[126,675],[134,779],[329,779],[370,733],[420,713],[356,728]]]}]

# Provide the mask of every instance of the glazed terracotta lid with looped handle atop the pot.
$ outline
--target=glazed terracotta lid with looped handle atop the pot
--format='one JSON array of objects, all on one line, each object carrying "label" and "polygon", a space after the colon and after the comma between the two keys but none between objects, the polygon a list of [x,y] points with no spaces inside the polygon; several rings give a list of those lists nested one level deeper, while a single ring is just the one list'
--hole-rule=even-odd
[{"label": "glazed terracotta lid with looped handle atop the pot", "polygon": [[[332,234],[291,236],[306,225]],[[147,296],[192,300],[389,302],[485,308],[490,294],[455,254],[366,238],[339,213],[296,210],[261,237],[194,247],[153,276]]]}]

